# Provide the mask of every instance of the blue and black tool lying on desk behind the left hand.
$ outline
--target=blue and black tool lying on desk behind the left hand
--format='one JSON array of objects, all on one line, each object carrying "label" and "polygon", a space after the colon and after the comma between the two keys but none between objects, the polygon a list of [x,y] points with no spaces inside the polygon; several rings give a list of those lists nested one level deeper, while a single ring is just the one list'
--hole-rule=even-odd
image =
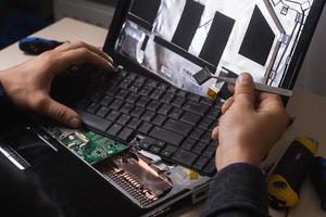
[{"label": "blue and black tool lying on desk behind the left hand", "polygon": [[62,43],[63,42],[45,38],[26,37],[18,41],[18,47],[25,53],[38,55],[45,51],[53,50]]}]

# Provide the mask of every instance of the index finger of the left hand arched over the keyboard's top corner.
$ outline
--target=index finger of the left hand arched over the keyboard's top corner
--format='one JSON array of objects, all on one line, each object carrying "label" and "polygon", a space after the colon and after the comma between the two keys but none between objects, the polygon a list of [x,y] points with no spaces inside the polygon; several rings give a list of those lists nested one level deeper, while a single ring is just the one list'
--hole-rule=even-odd
[{"label": "index finger of the left hand arched over the keyboard's top corner", "polygon": [[86,48],[65,51],[60,54],[59,60],[60,61],[57,62],[58,67],[55,71],[58,74],[65,72],[72,65],[80,65],[84,63],[105,69],[113,68],[110,62]]}]

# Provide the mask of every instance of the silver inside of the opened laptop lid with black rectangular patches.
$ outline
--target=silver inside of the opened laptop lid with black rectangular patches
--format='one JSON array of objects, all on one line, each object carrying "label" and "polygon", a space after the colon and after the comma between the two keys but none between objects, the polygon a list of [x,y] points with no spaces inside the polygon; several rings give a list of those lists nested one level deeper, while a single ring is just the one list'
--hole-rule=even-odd
[{"label": "silver inside of the opened laptop lid with black rectangular patches", "polygon": [[[134,0],[116,53],[174,86],[206,95],[192,75],[206,67],[249,72],[281,86],[316,0]],[[235,75],[234,75],[235,76]]]}]

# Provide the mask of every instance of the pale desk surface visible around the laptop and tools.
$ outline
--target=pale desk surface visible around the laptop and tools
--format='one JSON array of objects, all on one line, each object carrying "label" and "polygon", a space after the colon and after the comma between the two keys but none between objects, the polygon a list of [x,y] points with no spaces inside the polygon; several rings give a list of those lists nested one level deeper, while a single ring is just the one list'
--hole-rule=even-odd
[{"label": "pale desk surface visible around the laptop and tools", "polygon": [[[34,34],[34,36],[65,40],[83,40],[96,47],[102,47],[108,30],[89,24],[85,24],[72,18],[61,20],[53,25]],[[14,43],[0,51],[0,69],[9,68],[20,64],[33,56],[23,54]],[[326,98],[310,93],[304,90],[296,90],[293,98],[287,107],[291,116],[297,117],[294,124],[286,131],[284,137],[272,150],[268,162],[277,162],[287,146],[296,136],[306,136],[316,139],[319,142],[319,155],[326,156]],[[185,207],[173,214],[176,217],[195,217],[200,216],[202,204]],[[283,217],[284,213],[271,210],[274,217]],[[290,217],[314,216],[322,217],[325,213],[319,207],[319,200],[313,190],[311,181],[308,179],[301,191],[301,202],[292,208]]]}]

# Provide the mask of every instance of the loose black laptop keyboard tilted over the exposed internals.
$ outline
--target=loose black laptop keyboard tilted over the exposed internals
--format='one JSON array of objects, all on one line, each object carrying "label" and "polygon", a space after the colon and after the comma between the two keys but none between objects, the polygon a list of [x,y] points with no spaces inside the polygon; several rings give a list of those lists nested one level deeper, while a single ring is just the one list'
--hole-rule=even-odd
[{"label": "loose black laptop keyboard tilted over the exposed internals", "polygon": [[134,73],[105,74],[92,73],[88,97],[73,105],[88,126],[125,142],[142,136],[141,149],[201,175],[215,173],[211,132],[221,103]]}]

